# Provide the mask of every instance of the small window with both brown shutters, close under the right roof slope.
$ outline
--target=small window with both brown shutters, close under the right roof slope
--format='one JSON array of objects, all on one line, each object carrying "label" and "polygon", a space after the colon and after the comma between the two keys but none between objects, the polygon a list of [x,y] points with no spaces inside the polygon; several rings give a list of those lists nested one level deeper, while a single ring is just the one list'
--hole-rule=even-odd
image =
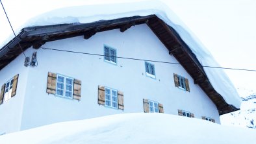
[{"label": "small window with both brown shutters, close under the right roof slope", "polygon": [[173,77],[174,77],[174,83],[176,87],[185,91],[190,91],[187,78],[181,77],[180,75],[177,75],[175,73],[173,74]]}]

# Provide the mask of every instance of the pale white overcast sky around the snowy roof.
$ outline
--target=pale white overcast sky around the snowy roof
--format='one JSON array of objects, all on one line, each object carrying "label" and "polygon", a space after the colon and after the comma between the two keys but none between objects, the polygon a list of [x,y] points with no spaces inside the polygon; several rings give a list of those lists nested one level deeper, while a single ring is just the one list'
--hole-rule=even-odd
[{"label": "pale white overcast sky around the snowy roof", "polygon": [[[66,6],[123,3],[127,0],[1,0],[14,30],[28,19]],[[135,1],[135,0],[133,0]],[[162,0],[177,14],[223,67],[256,69],[255,0]],[[11,33],[0,8],[0,43]],[[236,88],[256,92],[256,72],[225,71]],[[244,91],[238,90],[242,95]],[[252,93],[252,92],[251,92]]]}]

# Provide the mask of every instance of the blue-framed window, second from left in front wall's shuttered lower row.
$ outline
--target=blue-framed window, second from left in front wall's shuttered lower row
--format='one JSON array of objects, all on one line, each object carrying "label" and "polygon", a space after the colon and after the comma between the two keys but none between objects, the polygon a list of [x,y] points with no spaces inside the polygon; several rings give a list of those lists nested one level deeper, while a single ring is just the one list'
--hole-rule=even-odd
[{"label": "blue-framed window, second from left in front wall's shuttered lower row", "polygon": [[105,88],[105,106],[118,108],[118,91]]}]

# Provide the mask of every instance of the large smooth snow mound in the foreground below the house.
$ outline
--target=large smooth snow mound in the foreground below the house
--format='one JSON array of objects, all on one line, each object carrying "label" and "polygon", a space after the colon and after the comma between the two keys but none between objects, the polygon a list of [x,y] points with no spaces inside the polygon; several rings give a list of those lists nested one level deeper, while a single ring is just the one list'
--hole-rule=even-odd
[{"label": "large smooth snow mound in the foreground below the house", "polygon": [[168,114],[119,114],[0,136],[0,143],[255,143],[256,130]]}]

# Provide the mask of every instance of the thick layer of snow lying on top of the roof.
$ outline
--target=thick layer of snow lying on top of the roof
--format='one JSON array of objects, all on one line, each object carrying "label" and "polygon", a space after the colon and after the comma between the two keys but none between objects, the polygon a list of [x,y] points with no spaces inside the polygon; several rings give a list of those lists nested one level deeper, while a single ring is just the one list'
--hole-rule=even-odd
[{"label": "thick layer of snow lying on top of the roof", "polygon": [[[157,15],[168,25],[173,27],[183,41],[196,54],[202,66],[215,66],[219,64],[211,53],[199,42],[190,30],[177,18],[177,16],[159,1],[140,1],[136,3],[118,3],[107,5],[72,6],[60,8],[37,16],[29,20],[23,27],[55,25],[62,23],[90,23],[99,20],[117,19],[130,16]],[[1,46],[1,45],[0,45]],[[3,45],[2,45],[3,46]],[[222,95],[228,104],[240,108],[240,97],[237,90],[222,69],[205,68],[207,77],[212,86]]]}]

